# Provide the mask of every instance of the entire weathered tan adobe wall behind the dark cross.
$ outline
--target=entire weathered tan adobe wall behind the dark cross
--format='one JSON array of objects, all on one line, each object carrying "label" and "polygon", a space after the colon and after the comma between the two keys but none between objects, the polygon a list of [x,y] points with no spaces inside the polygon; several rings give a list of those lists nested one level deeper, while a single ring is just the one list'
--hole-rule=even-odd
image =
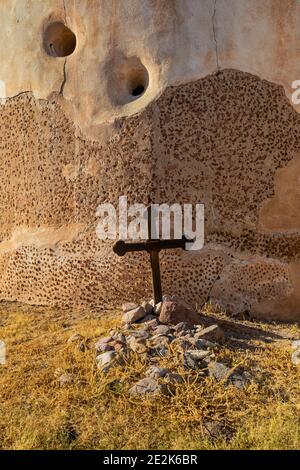
[{"label": "entire weathered tan adobe wall behind the dark cross", "polygon": [[[45,52],[54,21],[68,57]],[[0,298],[149,296],[147,256],[95,233],[125,194],[205,204],[206,246],[162,255],[165,292],[299,320],[299,26],[294,0],[2,0]]]}]

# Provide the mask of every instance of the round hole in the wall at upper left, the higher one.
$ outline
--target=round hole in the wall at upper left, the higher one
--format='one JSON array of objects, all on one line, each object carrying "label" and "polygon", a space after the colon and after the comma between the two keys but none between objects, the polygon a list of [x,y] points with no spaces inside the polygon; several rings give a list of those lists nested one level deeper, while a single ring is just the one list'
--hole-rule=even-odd
[{"label": "round hole in the wall at upper left, the higher one", "polygon": [[63,23],[51,23],[44,33],[44,48],[52,57],[67,57],[76,48],[75,34]]}]

